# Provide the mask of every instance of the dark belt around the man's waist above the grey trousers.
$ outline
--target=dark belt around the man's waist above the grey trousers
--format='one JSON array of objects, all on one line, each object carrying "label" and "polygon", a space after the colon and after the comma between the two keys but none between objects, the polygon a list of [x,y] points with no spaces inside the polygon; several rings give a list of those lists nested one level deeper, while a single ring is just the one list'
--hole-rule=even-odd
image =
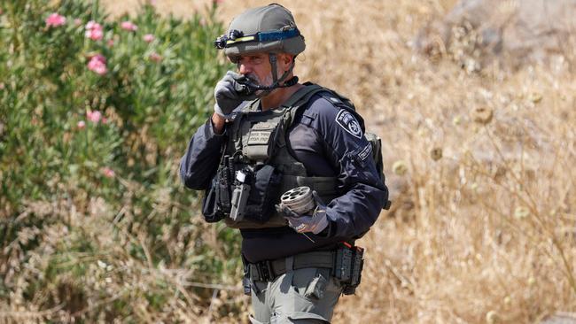
[{"label": "dark belt around the man's waist above the grey trousers", "polygon": [[292,269],[286,269],[286,258],[264,260],[257,263],[246,263],[247,275],[255,282],[271,282],[287,270],[298,270],[306,267],[334,268],[333,251],[314,251],[297,254],[293,259]]}]

